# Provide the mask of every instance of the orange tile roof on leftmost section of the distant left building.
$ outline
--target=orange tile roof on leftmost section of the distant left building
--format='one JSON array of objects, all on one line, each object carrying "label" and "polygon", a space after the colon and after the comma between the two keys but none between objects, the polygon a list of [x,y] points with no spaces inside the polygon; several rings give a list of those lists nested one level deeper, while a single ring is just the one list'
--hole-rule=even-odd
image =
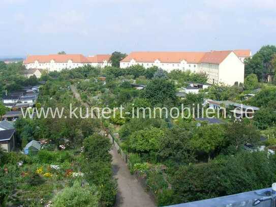
[{"label": "orange tile roof on leftmost section of the distant left building", "polygon": [[71,60],[73,63],[89,63],[87,58],[82,54],[49,54],[49,55],[29,55],[24,64],[35,63],[49,63],[54,60],[55,63],[67,63]]}]

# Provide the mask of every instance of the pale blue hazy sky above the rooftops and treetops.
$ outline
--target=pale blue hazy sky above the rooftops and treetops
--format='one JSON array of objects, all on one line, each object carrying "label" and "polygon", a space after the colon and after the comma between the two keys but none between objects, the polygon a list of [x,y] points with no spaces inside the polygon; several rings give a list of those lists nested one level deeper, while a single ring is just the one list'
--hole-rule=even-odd
[{"label": "pale blue hazy sky above the rooftops and treetops", "polygon": [[0,0],[0,56],[276,45],[275,0]]}]

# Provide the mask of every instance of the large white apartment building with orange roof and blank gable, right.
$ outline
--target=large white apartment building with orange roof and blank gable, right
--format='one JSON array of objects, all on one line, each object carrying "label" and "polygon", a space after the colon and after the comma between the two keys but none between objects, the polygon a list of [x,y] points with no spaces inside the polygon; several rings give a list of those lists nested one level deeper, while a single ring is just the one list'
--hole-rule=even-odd
[{"label": "large white apartment building with orange roof and blank gable, right", "polygon": [[243,83],[244,64],[232,50],[210,52],[132,52],[120,62],[120,68],[142,65],[172,70],[206,73],[208,83]]}]

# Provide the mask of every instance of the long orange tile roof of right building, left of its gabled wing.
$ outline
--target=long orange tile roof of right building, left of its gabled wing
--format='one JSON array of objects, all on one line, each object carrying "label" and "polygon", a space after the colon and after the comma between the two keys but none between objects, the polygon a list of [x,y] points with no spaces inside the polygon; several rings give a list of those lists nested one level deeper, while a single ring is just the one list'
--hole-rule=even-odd
[{"label": "long orange tile roof of right building, left of its gabled wing", "polygon": [[205,52],[131,52],[121,62],[130,62],[134,59],[136,62],[153,63],[159,60],[162,63],[180,63],[185,60],[188,63],[200,63]]}]

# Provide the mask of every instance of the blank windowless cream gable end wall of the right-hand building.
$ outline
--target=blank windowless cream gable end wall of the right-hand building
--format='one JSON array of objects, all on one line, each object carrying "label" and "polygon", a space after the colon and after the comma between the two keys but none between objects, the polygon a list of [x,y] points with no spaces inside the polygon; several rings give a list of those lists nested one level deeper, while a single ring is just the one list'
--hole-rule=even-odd
[{"label": "blank windowless cream gable end wall of the right-hand building", "polygon": [[231,52],[220,64],[219,81],[228,85],[234,85],[236,81],[243,83],[244,64],[234,52]]}]

